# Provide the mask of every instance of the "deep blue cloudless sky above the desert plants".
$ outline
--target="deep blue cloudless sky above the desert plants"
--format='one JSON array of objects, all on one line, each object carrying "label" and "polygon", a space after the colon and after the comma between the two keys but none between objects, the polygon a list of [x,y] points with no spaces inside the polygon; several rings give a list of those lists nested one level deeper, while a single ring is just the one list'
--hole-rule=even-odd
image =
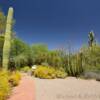
[{"label": "deep blue cloudless sky above the desert plants", "polygon": [[16,34],[29,44],[77,49],[91,30],[100,41],[100,0],[0,0],[0,6],[6,14],[14,8]]}]

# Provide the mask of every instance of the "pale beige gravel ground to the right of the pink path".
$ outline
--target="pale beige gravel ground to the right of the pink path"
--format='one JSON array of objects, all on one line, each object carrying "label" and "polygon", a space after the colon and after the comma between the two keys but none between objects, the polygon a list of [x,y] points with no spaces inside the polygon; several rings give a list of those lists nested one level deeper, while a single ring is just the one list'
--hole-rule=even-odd
[{"label": "pale beige gravel ground to the right of the pink path", "polygon": [[95,80],[68,77],[34,81],[36,100],[100,100],[100,82]]}]

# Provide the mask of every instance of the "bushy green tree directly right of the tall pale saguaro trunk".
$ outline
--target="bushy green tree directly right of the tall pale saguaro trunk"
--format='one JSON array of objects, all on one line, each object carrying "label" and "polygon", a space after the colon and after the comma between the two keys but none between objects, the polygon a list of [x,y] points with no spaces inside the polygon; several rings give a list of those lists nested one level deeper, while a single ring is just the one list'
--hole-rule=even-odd
[{"label": "bushy green tree directly right of the tall pale saguaro trunk", "polygon": [[[13,66],[11,65],[13,63]],[[31,66],[33,64],[31,48],[22,40],[15,38],[12,41],[10,68],[17,66]]]}]

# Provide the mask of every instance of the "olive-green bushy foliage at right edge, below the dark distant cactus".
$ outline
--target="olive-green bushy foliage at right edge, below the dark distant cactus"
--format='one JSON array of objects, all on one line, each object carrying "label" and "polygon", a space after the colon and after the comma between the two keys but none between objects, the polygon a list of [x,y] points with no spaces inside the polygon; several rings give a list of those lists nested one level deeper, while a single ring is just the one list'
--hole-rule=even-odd
[{"label": "olive-green bushy foliage at right edge, below the dark distant cactus", "polygon": [[99,71],[100,72],[100,45],[93,45],[91,48],[82,48],[84,55],[84,69],[85,71]]}]

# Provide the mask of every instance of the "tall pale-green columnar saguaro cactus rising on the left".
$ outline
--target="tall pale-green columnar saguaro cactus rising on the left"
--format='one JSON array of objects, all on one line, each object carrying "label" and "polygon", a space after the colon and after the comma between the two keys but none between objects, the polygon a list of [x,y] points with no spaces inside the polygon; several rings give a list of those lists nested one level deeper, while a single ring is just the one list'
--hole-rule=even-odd
[{"label": "tall pale-green columnar saguaro cactus rising on the left", "polygon": [[4,69],[8,69],[10,49],[11,49],[11,34],[12,34],[12,20],[13,20],[13,8],[10,7],[7,16],[5,41],[3,46],[3,61],[2,65]]}]

